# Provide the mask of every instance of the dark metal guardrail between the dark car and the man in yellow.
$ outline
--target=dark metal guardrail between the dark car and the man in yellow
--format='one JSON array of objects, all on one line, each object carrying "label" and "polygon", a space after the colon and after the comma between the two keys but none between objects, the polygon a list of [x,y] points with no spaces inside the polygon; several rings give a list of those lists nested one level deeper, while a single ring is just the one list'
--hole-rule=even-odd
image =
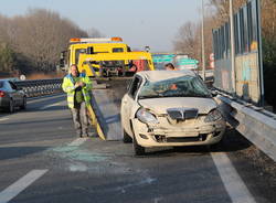
[{"label": "dark metal guardrail between the dark car and the man in yellow", "polygon": [[28,97],[50,95],[62,92],[62,78],[56,79],[32,79],[13,82]]}]

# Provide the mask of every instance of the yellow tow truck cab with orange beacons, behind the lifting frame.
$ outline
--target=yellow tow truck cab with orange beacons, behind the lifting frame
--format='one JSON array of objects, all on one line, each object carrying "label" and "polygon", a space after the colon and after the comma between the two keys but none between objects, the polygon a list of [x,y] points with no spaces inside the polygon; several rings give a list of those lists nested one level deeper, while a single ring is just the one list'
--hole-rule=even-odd
[{"label": "yellow tow truck cab with orange beacons, behind the lifting frame", "polygon": [[[96,54],[128,53],[130,51],[130,47],[123,43],[121,38],[71,39],[68,50],[61,53],[59,68],[67,71],[70,65],[79,64],[81,54],[87,54],[88,57]],[[129,61],[124,58],[116,62],[106,60],[103,64],[106,70],[116,72],[117,70],[128,67]],[[99,67],[99,64],[95,66]],[[94,76],[93,72],[86,70],[86,73],[87,76]]]}]

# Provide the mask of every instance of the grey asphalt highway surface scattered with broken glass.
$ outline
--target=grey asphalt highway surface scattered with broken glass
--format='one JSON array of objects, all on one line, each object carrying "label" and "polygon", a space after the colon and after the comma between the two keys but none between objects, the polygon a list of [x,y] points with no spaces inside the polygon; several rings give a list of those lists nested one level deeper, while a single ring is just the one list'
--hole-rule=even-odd
[{"label": "grey asphalt highway surface scattered with broken glass", "polygon": [[[120,89],[107,93],[118,107]],[[276,202],[275,180],[241,156],[251,146],[227,133],[225,149],[135,157],[131,143],[103,141],[93,129],[77,138],[65,95],[29,99],[26,110],[0,113],[0,203]]]}]

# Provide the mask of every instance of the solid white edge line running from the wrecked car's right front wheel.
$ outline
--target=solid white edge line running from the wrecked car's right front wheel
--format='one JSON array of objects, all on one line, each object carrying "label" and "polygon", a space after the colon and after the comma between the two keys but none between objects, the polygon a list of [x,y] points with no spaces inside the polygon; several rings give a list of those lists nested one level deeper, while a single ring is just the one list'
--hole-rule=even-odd
[{"label": "solid white edge line running from the wrecked car's right front wheel", "polygon": [[226,153],[211,153],[222,182],[233,203],[256,203]]}]

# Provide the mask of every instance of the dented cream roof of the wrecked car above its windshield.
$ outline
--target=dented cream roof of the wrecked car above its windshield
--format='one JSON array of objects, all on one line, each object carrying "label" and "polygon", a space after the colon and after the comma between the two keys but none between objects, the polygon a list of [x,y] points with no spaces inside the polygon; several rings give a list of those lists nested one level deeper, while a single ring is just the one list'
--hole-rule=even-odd
[{"label": "dented cream roof of the wrecked car above its windshield", "polygon": [[148,81],[152,81],[152,82],[181,77],[185,75],[197,76],[194,72],[189,71],[189,70],[185,70],[185,71],[145,71],[145,72],[138,72],[137,75],[140,75],[141,77],[145,77]]}]

